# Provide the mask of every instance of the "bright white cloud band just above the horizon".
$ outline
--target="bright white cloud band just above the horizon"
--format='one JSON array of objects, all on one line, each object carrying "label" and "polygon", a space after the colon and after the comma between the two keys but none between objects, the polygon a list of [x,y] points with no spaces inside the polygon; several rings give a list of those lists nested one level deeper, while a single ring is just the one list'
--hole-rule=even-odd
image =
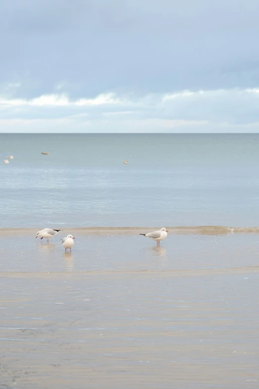
[{"label": "bright white cloud band just above the horizon", "polygon": [[247,132],[258,131],[259,88],[171,93],[68,93],[32,99],[0,97],[1,132]]}]

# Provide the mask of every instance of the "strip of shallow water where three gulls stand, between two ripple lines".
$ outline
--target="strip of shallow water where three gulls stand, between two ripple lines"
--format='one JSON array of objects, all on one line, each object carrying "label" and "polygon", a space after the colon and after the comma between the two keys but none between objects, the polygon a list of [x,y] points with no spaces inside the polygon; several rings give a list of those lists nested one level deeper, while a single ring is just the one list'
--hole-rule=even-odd
[{"label": "strip of shallow water where three gulls stand, between two ripple lines", "polygon": [[[75,236],[71,253],[65,253],[61,242],[68,233]],[[259,265],[258,234],[169,233],[160,247],[138,234],[67,230],[49,243],[35,239],[35,235],[31,230],[25,230],[25,235],[18,230],[15,235],[0,237],[1,271],[191,270]]]}]

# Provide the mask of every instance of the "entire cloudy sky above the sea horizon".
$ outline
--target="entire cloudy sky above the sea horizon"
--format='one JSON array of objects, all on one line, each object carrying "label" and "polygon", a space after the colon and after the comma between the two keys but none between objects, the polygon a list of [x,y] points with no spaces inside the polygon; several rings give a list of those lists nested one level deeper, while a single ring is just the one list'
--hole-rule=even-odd
[{"label": "entire cloudy sky above the sea horizon", "polygon": [[259,132],[257,0],[1,0],[0,132]]}]

